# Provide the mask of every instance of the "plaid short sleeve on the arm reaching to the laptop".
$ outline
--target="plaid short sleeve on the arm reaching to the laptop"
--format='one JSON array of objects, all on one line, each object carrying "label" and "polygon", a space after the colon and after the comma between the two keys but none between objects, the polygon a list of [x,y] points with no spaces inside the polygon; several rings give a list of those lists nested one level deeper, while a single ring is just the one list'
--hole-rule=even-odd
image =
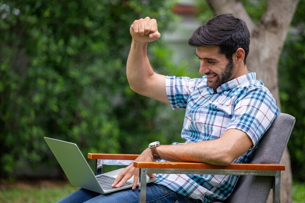
[{"label": "plaid short sleeve on the arm reaching to the laptop", "polygon": [[259,140],[279,114],[275,99],[264,87],[250,87],[237,101],[227,129],[240,129],[247,133],[256,148]]}]

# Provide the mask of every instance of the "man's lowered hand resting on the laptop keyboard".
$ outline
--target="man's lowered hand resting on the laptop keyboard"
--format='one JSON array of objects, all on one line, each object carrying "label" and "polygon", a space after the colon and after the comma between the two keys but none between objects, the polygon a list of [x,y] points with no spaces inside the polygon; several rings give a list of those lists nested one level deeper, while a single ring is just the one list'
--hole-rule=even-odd
[{"label": "man's lowered hand resting on the laptop keyboard", "polygon": [[[145,149],[138,158],[136,158],[134,161],[144,161],[144,162],[153,162],[155,161],[152,157],[152,152],[149,148]],[[150,178],[156,177],[156,174],[148,174]],[[139,168],[133,167],[133,163],[129,166],[127,166],[124,170],[122,170],[116,179],[114,180],[112,187],[120,187],[126,181],[131,179],[133,177],[133,189],[136,188],[137,182],[139,180]]]}]

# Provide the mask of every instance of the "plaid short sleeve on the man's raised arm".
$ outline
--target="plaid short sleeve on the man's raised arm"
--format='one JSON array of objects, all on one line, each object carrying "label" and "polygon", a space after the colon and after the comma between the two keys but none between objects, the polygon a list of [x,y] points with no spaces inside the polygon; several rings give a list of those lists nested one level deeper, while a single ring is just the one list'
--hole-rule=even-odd
[{"label": "plaid short sleeve on the man's raised arm", "polygon": [[186,108],[189,96],[194,90],[196,79],[189,77],[166,76],[166,94],[172,109]]}]

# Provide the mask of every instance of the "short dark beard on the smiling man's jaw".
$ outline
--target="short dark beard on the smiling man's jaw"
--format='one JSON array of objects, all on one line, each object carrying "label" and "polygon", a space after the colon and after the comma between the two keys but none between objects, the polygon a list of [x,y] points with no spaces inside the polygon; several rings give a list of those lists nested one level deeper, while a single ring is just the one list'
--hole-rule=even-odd
[{"label": "short dark beard on the smiling man's jaw", "polygon": [[224,84],[226,82],[229,82],[232,79],[233,68],[234,68],[233,59],[230,58],[228,64],[226,65],[224,72],[221,74],[218,74],[218,78],[214,83],[209,84],[209,81],[208,81],[208,86],[211,89],[213,89],[214,92],[216,92],[216,90],[219,86],[221,86],[222,84]]}]

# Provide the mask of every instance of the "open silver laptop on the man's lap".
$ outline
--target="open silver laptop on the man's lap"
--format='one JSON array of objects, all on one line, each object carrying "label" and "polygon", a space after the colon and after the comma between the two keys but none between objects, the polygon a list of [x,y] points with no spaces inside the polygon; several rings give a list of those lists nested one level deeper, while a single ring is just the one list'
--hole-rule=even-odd
[{"label": "open silver laptop on the man's lap", "polygon": [[[106,194],[133,186],[132,177],[119,188],[111,187],[118,173],[124,168],[95,176],[91,167],[88,165],[86,159],[75,143],[65,142],[49,137],[43,138],[72,185],[101,194]],[[147,183],[151,183],[156,180],[157,178],[147,177]]]}]

